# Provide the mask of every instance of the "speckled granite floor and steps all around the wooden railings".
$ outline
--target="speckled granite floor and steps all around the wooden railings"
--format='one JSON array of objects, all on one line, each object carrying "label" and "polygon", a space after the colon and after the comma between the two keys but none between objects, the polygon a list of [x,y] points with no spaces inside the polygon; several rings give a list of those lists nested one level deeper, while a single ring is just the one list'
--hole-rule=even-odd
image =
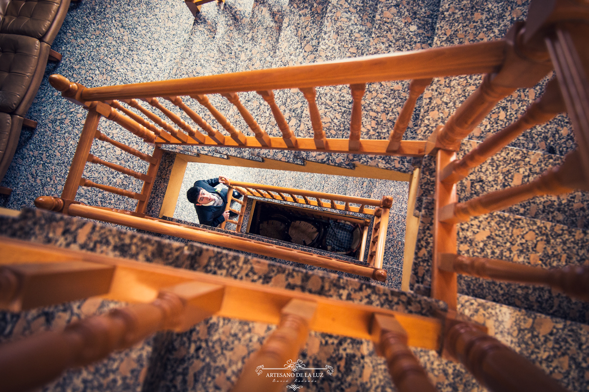
[{"label": "speckled granite floor and steps all around the wooden railings", "polygon": [[[527,6],[528,1],[522,0],[227,0],[224,5],[204,5],[203,12],[195,21],[183,2],[177,0],[142,0],[133,3],[104,0],[72,4],[53,45],[55,50],[64,55],[64,59],[47,66],[44,81],[28,113],[28,118],[37,120],[39,126],[34,132],[26,128],[23,130],[13,164],[2,180],[2,186],[12,187],[14,192],[10,197],[0,196],[0,206],[20,209],[22,206],[32,206],[33,200],[39,195],[61,193],[85,111],[63,99],[49,86],[47,77],[52,73],[60,73],[72,81],[94,87],[478,42],[501,38],[514,21],[525,18]],[[436,125],[445,122],[479,81],[480,76],[435,79],[422,98],[418,99],[406,138],[426,139]],[[502,100],[469,136],[471,141],[463,144],[464,150],[484,140],[489,132],[507,125],[524,110],[530,99],[540,95],[543,83],[545,81],[533,89],[517,91]],[[367,86],[362,122],[366,138],[388,135],[391,122],[401,109],[407,92],[407,82],[372,83]],[[270,135],[278,136],[276,124],[260,97],[255,93],[246,93],[241,98],[247,102],[260,125]],[[277,92],[276,98],[297,135],[310,136],[309,118],[302,95],[296,91],[284,91]],[[229,113],[228,118],[237,128],[247,129],[237,112],[231,110],[223,99],[213,97],[211,100]],[[187,102],[198,107],[193,100],[188,99]],[[335,137],[346,137],[351,106],[349,88],[319,89],[318,103],[323,110],[321,114],[326,132]],[[164,105],[168,103],[164,102]],[[213,122],[210,115],[203,115],[207,121]],[[145,153],[153,150],[141,139],[110,122],[102,120],[100,130]],[[528,130],[515,139],[510,147],[467,177],[459,187],[459,197],[477,196],[489,190],[525,182],[537,175],[540,169],[560,162],[561,157],[574,148],[574,137],[567,118],[558,116],[547,125]],[[414,165],[421,164],[419,160],[380,156],[198,147],[183,147],[181,150],[185,153],[221,157],[234,155],[254,160],[273,158],[301,165],[305,160],[350,168],[355,163],[363,163],[403,172],[409,172]],[[101,143],[95,143],[92,153],[111,162],[124,160],[125,166],[134,170],[145,169],[143,162],[117,153],[117,150]],[[161,169],[169,171],[172,163],[173,155],[167,154]],[[518,166],[512,167],[516,163]],[[507,165],[509,169],[498,173],[496,167],[499,164]],[[424,159],[420,202],[416,207],[418,215],[421,213],[421,232],[412,287],[421,292],[427,291],[431,263],[431,232],[428,229],[428,225],[431,225],[433,190],[431,168],[428,158]],[[236,171],[226,175],[240,175],[239,170],[232,170]],[[84,175],[96,182],[114,182],[124,189],[135,192],[140,190],[138,181],[113,174],[104,167],[88,165]],[[213,176],[218,175],[214,173]],[[481,182],[477,180],[481,176],[485,179],[492,176],[493,180]],[[202,176],[194,173],[193,177],[198,179]],[[272,176],[266,178],[272,180]],[[319,181],[314,175],[297,175],[295,178],[300,179],[301,187],[306,182],[316,184]],[[283,179],[280,180],[282,183]],[[154,199],[163,197],[164,185],[155,187]],[[342,186],[350,192],[355,189],[365,192],[365,187],[376,189],[381,185],[370,181],[365,185],[358,180],[353,185],[342,183]],[[93,205],[134,208],[134,202],[129,199],[116,195],[104,196],[94,189],[80,192],[77,199]],[[180,210],[186,208],[181,207]],[[519,257],[517,260],[521,262],[541,263],[543,266],[587,263],[587,246],[584,246],[589,229],[587,195],[573,193],[567,197],[534,199],[505,212],[461,225],[461,252],[472,256],[505,257],[509,260]],[[21,226],[18,233],[13,233],[14,236],[64,246],[64,237],[61,236],[51,240],[35,237],[40,234],[32,231],[31,227],[41,227],[39,225],[43,219],[33,212],[29,211],[28,214],[28,223]],[[399,213],[397,218],[401,219],[402,216]],[[155,243],[161,244],[161,240],[155,237],[118,232],[112,227],[86,221],[77,220],[75,225],[63,223],[65,221],[60,219],[49,221],[51,219],[45,222],[47,227],[55,231],[49,230],[46,234],[54,235],[63,229],[64,236],[70,238],[76,238],[81,227],[92,225],[95,230],[92,238],[82,236],[80,240],[87,240],[82,248],[88,246],[87,249],[98,252],[114,252],[110,245],[102,242],[106,232],[115,239],[113,243],[120,241],[117,248],[119,252],[124,250],[125,257],[137,260],[153,262],[148,260],[155,257],[150,250]],[[6,230],[11,230],[10,226],[2,227],[4,234]],[[396,227],[398,232],[395,232],[395,241],[391,242],[391,254],[398,253],[399,241],[403,237],[401,227],[404,226]],[[552,244],[555,246],[551,247]],[[199,264],[197,260],[200,256],[195,256],[194,263],[178,265],[180,267],[200,266],[208,268],[209,273],[227,273],[243,279],[240,269],[247,260],[243,256],[176,242],[165,242],[165,245],[158,248],[159,252],[165,250],[158,255],[160,258],[176,260],[174,254],[185,249],[199,255],[209,252],[207,254],[211,256],[208,259],[210,264]],[[396,250],[393,250],[395,246]],[[516,251],[517,256],[514,253]],[[563,259],[562,255],[566,257]],[[219,260],[211,261],[215,258],[213,256]],[[226,263],[223,266],[229,266],[229,269],[219,268],[218,263]],[[326,290],[334,296],[343,296],[342,299],[399,306],[399,309],[405,307],[408,311],[423,312],[433,306],[431,300],[417,294],[403,294],[345,277],[264,263],[248,264],[253,270],[248,270],[247,274],[260,283],[315,290],[317,293]],[[478,281],[463,280],[460,287],[462,293],[469,296],[459,294],[459,311],[487,324],[491,334],[544,368],[563,386],[573,391],[587,390],[589,367],[585,353],[588,351],[589,329],[585,304],[579,305],[570,300],[567,302],[560,299],[558,294],[546,291],[523,292],[518,291],[517,287],[515,290],[514,287],[491,287]],[[22,314],[0,313],[1,339],[5,341],[51,326],[61,327],[68,320],[100,313],[114,306],[120,304],[84,301]],[[272,329],[267,324],[213,318],[184,335],[156,336],[154,340],[145,341],[131,351],[114,354],[102,363],[72,370],[45,390],[229,390],[244,357],[259,347]],[[227,339],[227,336],[238,335],[240,340]],[[153,347],[156,349],[153,350]],[[483,390],[462,366],[440,359],[433,351],[415,349],[414,352],[439,390]],[[151,364],[154,360],[161,364],[159,368],[153,368],[153,374],[161,375],[157,382],[150,378],[150,356]],[[374,355],[372,344],[367,341],[312,334],[302,358],[309,363],[333,362],[340,375],[334,381],[316,384],[309,390],[393,390],[383,360]],[[144,380],[148,382],[144,383]]]}]

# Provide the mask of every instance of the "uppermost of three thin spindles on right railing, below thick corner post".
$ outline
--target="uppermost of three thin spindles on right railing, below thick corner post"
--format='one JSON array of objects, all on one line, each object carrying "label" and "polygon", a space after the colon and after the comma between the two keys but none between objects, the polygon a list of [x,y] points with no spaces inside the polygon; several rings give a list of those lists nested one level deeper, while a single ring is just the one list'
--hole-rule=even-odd
[{"label": "uppermost of three thin spindles on right railing, below thick corner post", "polygon": [[524,130],[550,121],[554,116],[566,110],[558,88],[557,79],[551,79],[542,96],[525,110],[524,114],[511,125],[489,136],[477,148],[460,160],[453,160],[440,173],[440,180],[446,184],[456,183],[468,176],[471,169],[481,165],[488,158],[498,153],[512,142]]}]

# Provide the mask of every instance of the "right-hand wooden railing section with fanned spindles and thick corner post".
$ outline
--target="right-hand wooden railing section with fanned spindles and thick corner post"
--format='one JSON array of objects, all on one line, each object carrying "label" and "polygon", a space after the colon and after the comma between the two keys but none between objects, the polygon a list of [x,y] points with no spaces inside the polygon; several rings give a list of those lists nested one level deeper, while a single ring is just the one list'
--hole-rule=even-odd
[{"label": "right-hand wooden railing section with fanned spindles and thick corner post", "polygon": [[[586,39],[589,5],[557,0],[547,8],[543,2],[532,1],[528,16],[528,21],[517,22],[505,36],[505,59],[501,67],[484,76],[481,86],[428,141],[428,152],[437,158],[431,295],[446,301],[450,309],[456,309],[456,273],[548,284],[587,300],[586,272],[580,266],[547,272],[501,260],[451,256],[458,253],[457,225],[471,216],[501,210],[534,196],[589,190],[589,42]],[[462,139],[487,116],[495,103],[518,88],[531,88],[553,67],[556,78],[548,82],[541,98],[517,121],[489,136],[464,158],[456,159],[455,151]],[[573,123],[577,149],[565,156],[562,165],[547,170],[530,183],[466,202],[458,201],[456,182],[468,176],[471,169],[498,153],[525,129],[564,111]]]}]

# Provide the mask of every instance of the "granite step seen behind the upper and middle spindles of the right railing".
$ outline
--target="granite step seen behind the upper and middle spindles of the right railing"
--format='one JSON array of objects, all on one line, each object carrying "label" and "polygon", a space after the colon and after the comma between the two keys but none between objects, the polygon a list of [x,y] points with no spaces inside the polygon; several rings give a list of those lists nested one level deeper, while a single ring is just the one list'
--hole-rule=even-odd
[{"label": "granite step seen behind the upper and middle spindles of the right railing", "polygon": [[[471,151],[480,142],[464,140],[458,158]],[[499,189],[530,182],[546,170],[562,163],[562,156],[532,152],[517,148],[504,148],[476,167],[465,179],[458,182],[459,202],[485,195]],[[423,158],[419,197],[434,197],[435,158]],[[589,192],[575,191],[561,196],[537,196],[502,210],[504,213],[531,217],[569,227],[589,229]],[[418,206],[416,206],[416,209]]]}]

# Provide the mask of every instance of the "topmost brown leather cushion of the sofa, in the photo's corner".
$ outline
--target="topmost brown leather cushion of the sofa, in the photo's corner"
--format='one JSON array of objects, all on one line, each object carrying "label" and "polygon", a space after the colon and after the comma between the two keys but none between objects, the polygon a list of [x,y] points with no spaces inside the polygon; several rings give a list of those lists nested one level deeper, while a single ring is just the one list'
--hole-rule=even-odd
[{"label": "topmost brown leather cushion of the sofa, in the photo's corner", "polygon": [[2,0],[0,33],[41,39],[57,14],[61,0]]}]

